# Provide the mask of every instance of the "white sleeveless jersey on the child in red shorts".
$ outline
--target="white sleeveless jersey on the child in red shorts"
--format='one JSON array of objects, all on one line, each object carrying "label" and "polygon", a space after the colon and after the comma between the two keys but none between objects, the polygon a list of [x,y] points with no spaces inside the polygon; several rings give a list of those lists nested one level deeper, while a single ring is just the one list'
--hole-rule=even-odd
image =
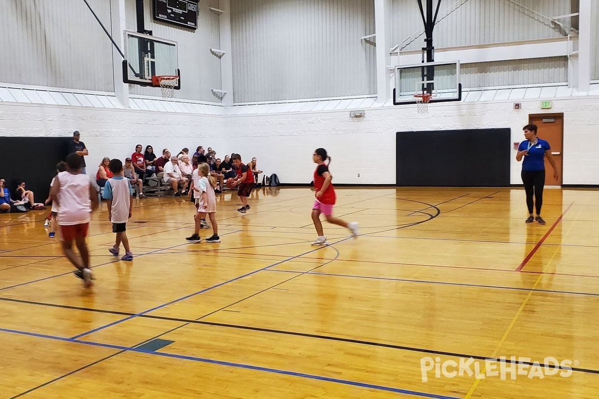
[{"label": "white sleeveless jersey on the child in red shorts", "polygon": [[60,172],[56,175],[60,182],[58,190],[58,224],[60,226],[73,226],[75,224],[89,223],[92,205],[89,200],[89,178],[80,173],[72,175],[69,172]]}]

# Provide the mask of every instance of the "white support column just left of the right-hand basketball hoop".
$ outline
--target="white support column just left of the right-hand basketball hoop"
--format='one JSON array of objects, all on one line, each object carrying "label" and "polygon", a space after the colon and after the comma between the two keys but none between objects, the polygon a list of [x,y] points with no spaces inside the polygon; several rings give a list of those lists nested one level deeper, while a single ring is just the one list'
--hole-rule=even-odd
[{"label": "white support column just left of the right-hand basketball hoop", "polygon": [[374,0],[374,26],[376,31],[376,82],[377,103],[391,98],[388,65],[391,63],[391,0]]}]

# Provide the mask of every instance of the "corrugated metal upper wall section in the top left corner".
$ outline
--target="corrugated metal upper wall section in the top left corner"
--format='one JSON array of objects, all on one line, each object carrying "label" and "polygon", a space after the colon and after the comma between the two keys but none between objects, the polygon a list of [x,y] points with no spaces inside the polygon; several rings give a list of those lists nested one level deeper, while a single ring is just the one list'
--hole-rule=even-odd
[{"label": "corrugated metal upper wall section in the top left corner", "polygon": [[[89,4],[110,26],[110,2]],[[112,45],[83,1],[2,1],[0,37],[0,82],[114,91]]]}]

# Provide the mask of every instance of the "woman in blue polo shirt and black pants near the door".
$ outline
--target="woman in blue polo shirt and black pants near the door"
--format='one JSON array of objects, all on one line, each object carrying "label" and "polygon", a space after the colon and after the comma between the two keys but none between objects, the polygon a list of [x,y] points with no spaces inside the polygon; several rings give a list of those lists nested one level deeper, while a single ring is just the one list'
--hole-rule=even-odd
[{"label": "woman in blue polo shirt and black pants near the door", "polygon": [[[522,182],[526,191],[526,205],[528,206],[528,219],[526,223],[537,221],[545,224],[541,218],[541,206],[543,206],[543,187],[545,185],[545,157],[553,167],[553,178],[559,179],[555,160],[551,155],[549,143],[537,137],[537,125],[527,124],[524,126],[525,141],[520,143],[516,160],[522,162]],[[533,202],[533,194],[535,201]],[[533,205],[536,208],[537,216],[533,217]]]}]

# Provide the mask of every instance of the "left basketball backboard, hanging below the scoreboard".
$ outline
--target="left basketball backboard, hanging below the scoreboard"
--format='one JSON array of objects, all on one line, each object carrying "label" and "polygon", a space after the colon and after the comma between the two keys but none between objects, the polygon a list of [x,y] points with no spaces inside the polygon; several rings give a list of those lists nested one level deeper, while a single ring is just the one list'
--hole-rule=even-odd
[{"label": "left basketball backboard, hanging below the scoreboard", "polygon": [[[123,82],[141,86],[160,87],[152,77],[180,76],[177,42],[142,33],[125,31]],[[181,88],[181,80],[174,89]]]}]

